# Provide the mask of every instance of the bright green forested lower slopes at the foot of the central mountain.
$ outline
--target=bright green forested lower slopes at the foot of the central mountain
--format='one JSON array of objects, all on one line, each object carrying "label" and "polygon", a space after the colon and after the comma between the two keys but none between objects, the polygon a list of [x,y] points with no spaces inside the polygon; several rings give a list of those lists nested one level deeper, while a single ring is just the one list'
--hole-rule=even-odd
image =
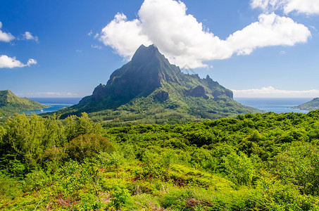
[{"label": "bright green forested lower slopes at the foot of the central mountain", "polygon": [[213,99],[192,96],[187,96],[183,100],[185,103],[173,100],[161,103],[149,96],[138,98],[116,110],[89,113],[89,117],[94,122],[101,122],[105,127],[113,127],[125,124],[181,124],[191,121],[215,120],[221,117],[237,117],[239,113],[245,114],[252,110],[236,101],[216,102]]}]

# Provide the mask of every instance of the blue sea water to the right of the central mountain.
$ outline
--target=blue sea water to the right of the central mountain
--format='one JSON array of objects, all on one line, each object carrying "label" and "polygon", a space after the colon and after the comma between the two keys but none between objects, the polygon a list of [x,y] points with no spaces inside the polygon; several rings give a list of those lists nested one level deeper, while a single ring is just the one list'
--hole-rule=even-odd
[{"label": "blue sea water to the right of the central mountain", "polygon": [[292,108],[311,101],[312,98],[234,98],[245,106],[273,113],[308,113],[308,110]]}]

